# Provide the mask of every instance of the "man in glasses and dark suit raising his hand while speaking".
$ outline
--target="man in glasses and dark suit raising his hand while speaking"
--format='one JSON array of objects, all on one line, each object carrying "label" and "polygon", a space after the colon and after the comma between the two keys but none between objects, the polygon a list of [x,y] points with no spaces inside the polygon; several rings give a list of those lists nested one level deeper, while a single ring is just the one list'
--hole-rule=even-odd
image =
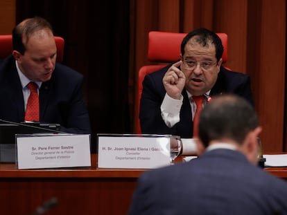
[{"label": "man in glasses and dark suit raising his hand while speaking", "polygon": [[236,93],[253,105],[250,77],[229,71],[222,63],[223,44],[205,28],[189,32],[182,40],[180,62],[146,75],[139,119],[142,133],[173,134],[193,138],[197,106],[193,96]]}]

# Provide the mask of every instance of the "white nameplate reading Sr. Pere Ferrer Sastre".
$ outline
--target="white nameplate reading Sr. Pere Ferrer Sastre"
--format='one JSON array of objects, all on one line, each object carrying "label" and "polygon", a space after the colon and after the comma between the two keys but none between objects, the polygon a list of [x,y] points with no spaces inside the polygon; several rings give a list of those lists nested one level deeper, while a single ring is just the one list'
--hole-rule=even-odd
[{"label": "white nameplate reading Sr. Pere Ferrer Sastre", "polygon": [[90,135],[16,135],[18,169],[90,167]]}]

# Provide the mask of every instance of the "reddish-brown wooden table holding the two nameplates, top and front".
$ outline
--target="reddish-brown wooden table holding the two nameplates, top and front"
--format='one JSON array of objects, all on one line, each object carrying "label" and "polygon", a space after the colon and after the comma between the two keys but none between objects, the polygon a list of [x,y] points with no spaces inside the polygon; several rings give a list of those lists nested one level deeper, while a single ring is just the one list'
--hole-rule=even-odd
[{"label": "reddish-brown wooden table holding the two nameplates, top and front", "polygon": [[[46,214],[126,214],[143,169],[70,169],[19,170],[15,164],[0,164],[1,214],[32,214],[53,197],[58,205]],[[287,168],[266,171],[287,180]]]}]

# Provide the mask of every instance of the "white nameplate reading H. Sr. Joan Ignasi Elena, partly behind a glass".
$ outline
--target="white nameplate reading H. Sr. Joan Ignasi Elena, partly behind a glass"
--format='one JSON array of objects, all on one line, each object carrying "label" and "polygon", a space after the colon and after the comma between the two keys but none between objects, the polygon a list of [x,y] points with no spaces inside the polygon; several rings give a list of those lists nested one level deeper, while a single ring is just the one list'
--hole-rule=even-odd
[{"label": "white nameplate reading H. Sr. Joan Ignasi Elena, partly behind a glass", "polygon": [[154,169],[170,165],[168,137],[98,135],[98,168]]}]

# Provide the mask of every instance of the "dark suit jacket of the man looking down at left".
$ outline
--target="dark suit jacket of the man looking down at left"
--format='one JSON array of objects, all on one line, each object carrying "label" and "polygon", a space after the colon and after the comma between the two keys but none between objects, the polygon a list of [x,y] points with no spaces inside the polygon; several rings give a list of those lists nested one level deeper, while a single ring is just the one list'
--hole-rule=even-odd
[{"label": "dark suit jacket of the man looking down at left", "polygon": [[[58,123],[69,133],[91,133],[82,82],[80,73],[56,63],[51,80],[40,88],[40,122]],[[24,121],[24,97],[12,55],[0,64],[0,101],[0,119]]]}]

